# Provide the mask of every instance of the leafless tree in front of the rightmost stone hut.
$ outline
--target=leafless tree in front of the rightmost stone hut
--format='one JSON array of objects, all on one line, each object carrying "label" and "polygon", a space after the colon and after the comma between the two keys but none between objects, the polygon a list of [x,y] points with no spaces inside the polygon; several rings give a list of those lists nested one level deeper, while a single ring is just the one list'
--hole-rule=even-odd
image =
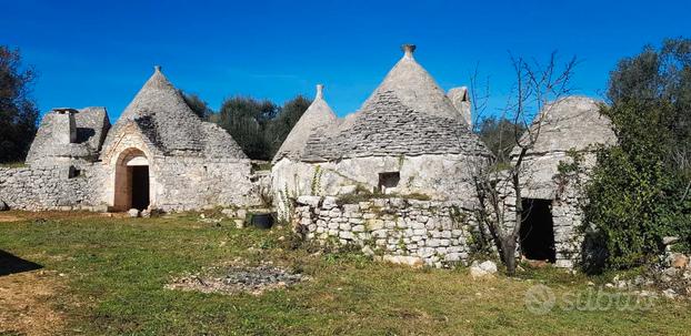
[{"label": "leafless tree in front of the rightmost stone hut", "polygon": [[[474,184],[480,198],[477,217],[481,232],[485,230],[499,251],[508,274],[515,273],[515,252],[520,236],[523,213],[522,190],[524,187],[524,160],[540,136],[544,118],[560,98],[571,92],[570,81],[577,59],[572,58],[563,65],[558,64],[553,52],[545,64],[527,61],[511,55],[515,75],[511,98],[500,113],[515,125],[512,139],[501,139],[513,146],[509,165],[500,169],[498,157],[490,159],[490,164],[475,167]],[[477,71],[471,79],[471,94],[475,118],[487,111],[488,93],[474,96],[478,85]],[[489,92],[485,89],[484,92]],[[484,100],[484,101],[483,101]],[[530,122],[531,119],[534,120]],[[527,131],[523,131],[527,130]]]}]

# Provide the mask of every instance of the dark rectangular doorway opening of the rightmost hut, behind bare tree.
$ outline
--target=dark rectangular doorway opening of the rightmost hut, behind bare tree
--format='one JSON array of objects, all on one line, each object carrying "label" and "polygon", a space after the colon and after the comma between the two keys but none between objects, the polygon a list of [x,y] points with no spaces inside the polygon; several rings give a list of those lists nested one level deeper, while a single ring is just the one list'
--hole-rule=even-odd
[{"label": "dark rectangular doorway opening of the rightmost hut, behind bare tree", "polygon": [[533,261],[553,263],[557,258],[554,248],[554,223],[552,222],[551,200],[523,200],[521,214],[521,252]]}]

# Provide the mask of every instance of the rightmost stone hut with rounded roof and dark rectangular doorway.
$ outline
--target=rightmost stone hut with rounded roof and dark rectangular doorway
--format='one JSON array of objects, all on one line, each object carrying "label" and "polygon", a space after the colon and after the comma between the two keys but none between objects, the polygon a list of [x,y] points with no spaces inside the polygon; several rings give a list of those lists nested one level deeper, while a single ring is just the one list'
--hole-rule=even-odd
[{"label": "rightmost stone hut with rounded roof and dark rectangular doorway", "polygon": [[[523,213],[512,211],[515,197],[507,198],[508,218],[523,221],[520,248],[527,258],[560,267],[572,267],[580,259],[580,204],[585,201],[581,186],[595,164],[595,147],[615,142],[610,121],[599,112],[601,104],[585,96],[563,98],[544,106],[530,128],[530,133],[539,130],[539,134],[520,171]],[[512,159],[518,153],[517,147]],[[560,172],[560,163],[572,163],[573,154],[582,157],[580,172]]]}]

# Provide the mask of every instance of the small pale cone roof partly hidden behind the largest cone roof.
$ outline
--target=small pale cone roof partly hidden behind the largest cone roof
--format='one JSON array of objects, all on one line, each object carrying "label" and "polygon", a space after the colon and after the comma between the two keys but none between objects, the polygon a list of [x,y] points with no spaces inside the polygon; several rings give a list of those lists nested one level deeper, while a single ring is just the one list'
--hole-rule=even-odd
[{"label": "small pale cone roof partly hidden behind the largest cone roof", "polygon": [[308,139],[316,130],[332,125],[337,120],[336,113],[323,99],[323,85],[317,85],[317,96],[310,106],[304,111],[300,120],[290,131],[290,134],[281,144],[273,156],[273,162],[283,157],[299,160],[304,153]]}]

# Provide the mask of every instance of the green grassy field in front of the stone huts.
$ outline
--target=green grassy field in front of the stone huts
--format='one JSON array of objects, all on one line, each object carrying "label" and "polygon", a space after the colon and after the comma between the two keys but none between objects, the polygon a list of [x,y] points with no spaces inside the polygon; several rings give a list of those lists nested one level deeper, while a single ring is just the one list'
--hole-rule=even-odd
[{"label": "green grassy field in front of the stone huts", "polygon": [[[42,265],[0,276],[0,335],[688,335],[691,305],[583,312],[525,307],[544,283],[592,291],[555,269],[472,279],[465,268],[411,269],[358,254],[291,246],[287,228],[234,228],[197,216],[110,218],[4,213],[0,250]],[[293,287],[220,295],[166,289],[172,277],[238,263],[310,277]],[[594,286],[597,287],[597,285]]]}]

